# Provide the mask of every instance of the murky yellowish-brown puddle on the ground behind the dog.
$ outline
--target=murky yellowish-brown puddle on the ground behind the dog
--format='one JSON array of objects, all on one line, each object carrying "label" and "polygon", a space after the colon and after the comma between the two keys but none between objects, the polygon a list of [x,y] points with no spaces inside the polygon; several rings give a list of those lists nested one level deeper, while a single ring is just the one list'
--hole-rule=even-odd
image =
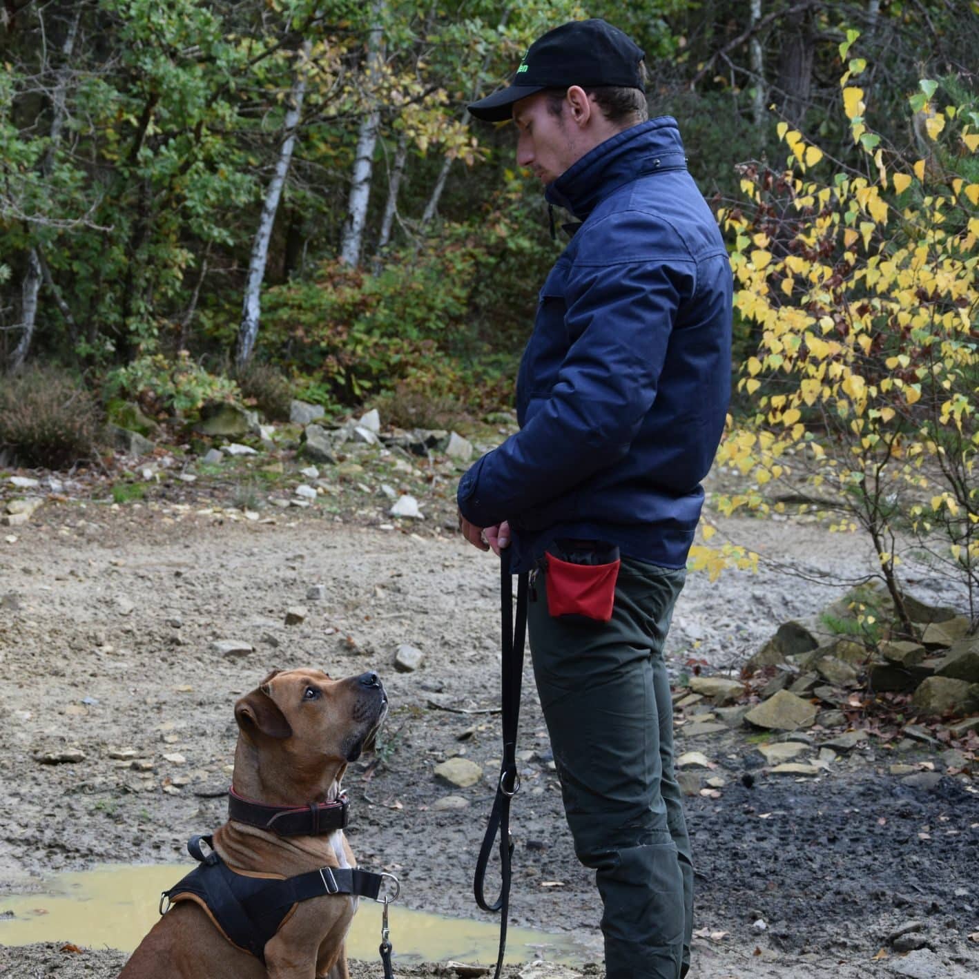
[{"label": "murky yellowish-brown puddle on the ground behind the dog", "polygon": [[[32,894],[0,897],[0,944],[72,942],[131,952],[160,917],[160,892],[189,869],[178,863],[103,864],[92,870],[60,874]],[[447,918],[397,904],[391,906],[389,914],[391,941],[402,961],[490,962],[496,958],[499,925],[489,915],[485,921]],[[350,929],[348,955],[376,957],[380,938],[381,906],[361,901]],[[530,928],[511,927],[508,931],[508,962],[545,957],[575,965],[600,960],[600,956],[600,947],[576,942],[571,935]]]}]

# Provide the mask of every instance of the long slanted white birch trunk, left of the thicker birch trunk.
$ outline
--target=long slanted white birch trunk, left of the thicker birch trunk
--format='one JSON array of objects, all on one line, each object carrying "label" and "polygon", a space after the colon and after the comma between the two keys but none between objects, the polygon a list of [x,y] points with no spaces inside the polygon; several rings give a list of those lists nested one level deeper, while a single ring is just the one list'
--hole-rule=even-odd
[{"label": "long slanted white birch trunk, left of the thicker birch trunk", "polygon": [[248,282],[245,285],[245,299],[242,303],[242,322],[238,328],[238,351],[235,362],[244,367],[252,357],[258,336],[258,318],[261,315],[261,280],[265,277],[265,264],[268,261],[268,244],[272,239],[272,227],[275,224],[275,213],[279,210],[282,198],[282,188],[286,183],[286,174],[293,159],[293,149],[296,146],[296,127],[299,125],[303,112],[303,99],[306,89],[306,63],[312,50],[311,41],[303,41],[300,57],[296,68],[296,79],[290,93],[289,111],[282,125],[285,138],[279,159],[275,164],[275,172],[265,192],[265,203],[258,219],[258,230],[252,245],[252,260],[249,262]]}]

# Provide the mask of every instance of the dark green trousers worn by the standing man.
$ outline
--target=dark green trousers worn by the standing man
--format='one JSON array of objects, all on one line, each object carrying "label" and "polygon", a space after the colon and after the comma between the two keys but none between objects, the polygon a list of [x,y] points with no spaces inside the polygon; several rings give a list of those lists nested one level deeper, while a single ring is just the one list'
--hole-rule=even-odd
[{"label": "dark green trousers worn by the standing man", "polygon": [[623,559],[607,624],[552,619],[544,575],[528,612],[534,673],[575,852],[605,908],[605,975],[679,979],[693,862],[663,646],[685,572]]}]

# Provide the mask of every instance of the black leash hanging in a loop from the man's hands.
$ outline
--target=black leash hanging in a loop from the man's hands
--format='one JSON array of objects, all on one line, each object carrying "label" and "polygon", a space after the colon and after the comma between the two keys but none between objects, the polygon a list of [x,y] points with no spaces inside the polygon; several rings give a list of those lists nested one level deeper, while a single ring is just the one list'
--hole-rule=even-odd
[{"label": "black leash hanging in a loop from the man's hands", "polygon": [[[513,576],[510,573],[510,551],[500,551],[500,613],[502,631],[500,652],[502,655],[501,706],[503,718],[503,761],[496,785],[496,798],[489,813],[489,824],[480,855],[476,860],[473,891],[476,903],[485,911],[500,911],[499,952],[493,979],[499,979],[506,951],[506,924],[510,907],[510,858],[513,856],[513,840],[510,838],[510,800],[520,790],[520,774],[517,771],[517,723],[520,718],[520,682],[524,670],[524,638],[527,633],[528,576],[517,577],[517,619],[513,618]],[[492,903],[486,899],[484,884],[492,845],[499,834],[499,897]]]}]

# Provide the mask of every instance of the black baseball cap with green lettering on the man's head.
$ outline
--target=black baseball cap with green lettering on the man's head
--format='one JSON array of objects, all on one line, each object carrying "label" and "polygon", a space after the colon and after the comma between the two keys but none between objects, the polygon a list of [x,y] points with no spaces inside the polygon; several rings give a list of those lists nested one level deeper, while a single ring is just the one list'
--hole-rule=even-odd
[{"label": "black baseball cap with green lettering on the man's head", "polygon": [[469,112],[487,122],[502,122],[514,102],[545,88],[598,88],[603,85],[646,90],[640,63],[645,57],[618,27],[598,18],[572,21],[548,30],[528,48],[507,88],[474,102]]}]

